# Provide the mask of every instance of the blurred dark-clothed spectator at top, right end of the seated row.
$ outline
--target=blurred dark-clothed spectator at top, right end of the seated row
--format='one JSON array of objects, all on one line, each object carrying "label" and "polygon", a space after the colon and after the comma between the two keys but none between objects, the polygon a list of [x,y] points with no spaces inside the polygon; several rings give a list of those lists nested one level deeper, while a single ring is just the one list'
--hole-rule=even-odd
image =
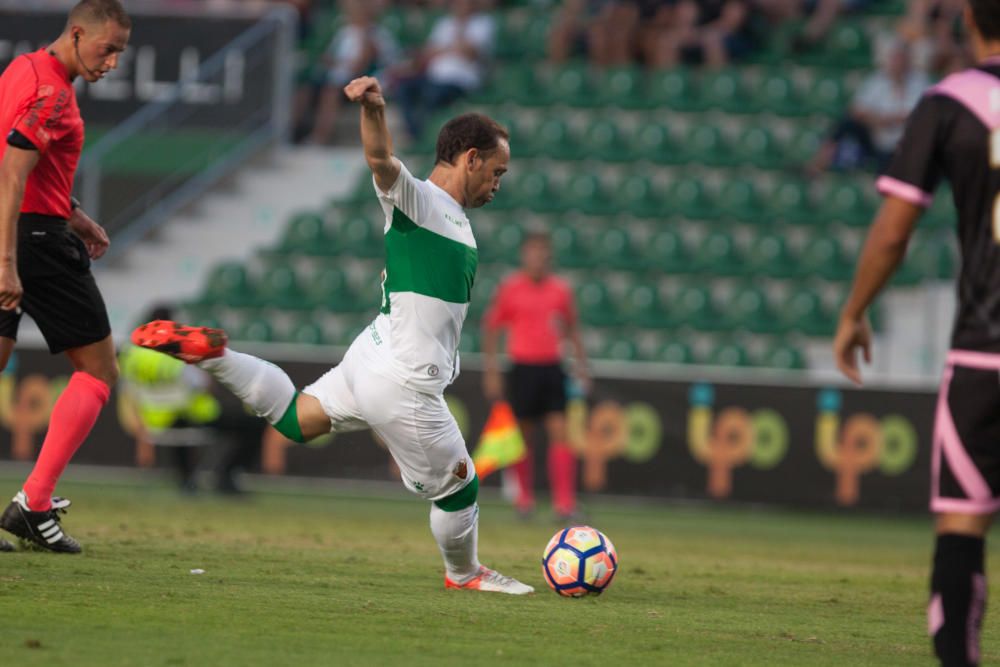
[{"label": "blurred dark-clothed spectator at top, right end of the seated row", "polygon": [[641,39],[650,67],[705,63],[722,67],[749,51],[746,0],[680,0],[658,12]]}]

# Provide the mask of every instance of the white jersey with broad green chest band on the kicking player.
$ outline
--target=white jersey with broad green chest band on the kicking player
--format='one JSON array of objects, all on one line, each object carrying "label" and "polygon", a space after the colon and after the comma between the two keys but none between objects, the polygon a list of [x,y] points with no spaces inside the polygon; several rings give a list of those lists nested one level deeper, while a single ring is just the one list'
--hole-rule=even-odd
[{"label": "white jersey with broad green chest band on the kicking player", "polygon": [[380,315],[358,337],[371,370],[405,387],[442,393],[458,376],[458,343],[479,255],[451,195],[402,166],[388,192]]}]

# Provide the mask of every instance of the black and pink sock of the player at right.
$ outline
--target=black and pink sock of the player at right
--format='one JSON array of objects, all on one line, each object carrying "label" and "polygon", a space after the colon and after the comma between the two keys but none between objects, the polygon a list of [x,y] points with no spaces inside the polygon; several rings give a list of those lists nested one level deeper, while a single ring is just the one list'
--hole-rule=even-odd
[{"label": "black and pink sock of the player at right", "polygon": [[937,538],[927,627],[945,667],[979,663],[979,629],[986,609],[983,549],[980,537]]}]

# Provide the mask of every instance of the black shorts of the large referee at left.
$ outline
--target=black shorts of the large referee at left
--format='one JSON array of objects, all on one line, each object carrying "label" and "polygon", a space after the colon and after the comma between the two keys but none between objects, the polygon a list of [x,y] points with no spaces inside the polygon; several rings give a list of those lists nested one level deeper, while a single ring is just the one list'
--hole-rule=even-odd
[{"label": "black shorts of the large referee at left", "polygon": [[[35,321],[52,354],[111,335],[111,323],[87,247],[65,220],[24,214],[17,225],[21,308]],[[17,340],[21,312],[0,310],[0,336]]]}]

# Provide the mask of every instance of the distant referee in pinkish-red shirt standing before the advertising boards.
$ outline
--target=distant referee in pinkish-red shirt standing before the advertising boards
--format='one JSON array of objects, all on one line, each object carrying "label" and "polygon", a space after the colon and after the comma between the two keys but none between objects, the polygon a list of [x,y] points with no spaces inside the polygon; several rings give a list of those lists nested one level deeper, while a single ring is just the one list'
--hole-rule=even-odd
[{"label": "distant referee in pinkish-red shirt standing before the advertising boards", "polygon": [[522,516],[535,509],[531,440],[540,422],[549,444],[552,508],[559,521],[569,521],[577,514],[576,455],[566,431],[566,374],[561,351],[564,340],[572,344],[576,378],[585,392],[589,391],[590,378],[573,292],[552,275],[551,264],[552,242],[548,234],[528,234],[521,245],[521,270],[500,284],[483,320],[483,390],[488,400],[504,397],[497,347],[500,332],[506,329],[507,352],[514,362],[507,377],[507,397],[529,452],[512,468],[517,480],[514,504]]}]

